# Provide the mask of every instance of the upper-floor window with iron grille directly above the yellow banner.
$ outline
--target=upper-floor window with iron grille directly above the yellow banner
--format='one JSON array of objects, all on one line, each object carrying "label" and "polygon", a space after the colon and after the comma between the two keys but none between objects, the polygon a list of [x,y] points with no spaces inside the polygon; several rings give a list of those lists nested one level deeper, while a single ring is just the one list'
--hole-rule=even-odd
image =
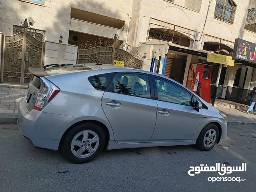
[{"label": "upper-floor window with iron grille directly above the yellow banner", "polygon": [[236,15],[236,4],[232,0],[217,0],[214,18],[233,24]]}]

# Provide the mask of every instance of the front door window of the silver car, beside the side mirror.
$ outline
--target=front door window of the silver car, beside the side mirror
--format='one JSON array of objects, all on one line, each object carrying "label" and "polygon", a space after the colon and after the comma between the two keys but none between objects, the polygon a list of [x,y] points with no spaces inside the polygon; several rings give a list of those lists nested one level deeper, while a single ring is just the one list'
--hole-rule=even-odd
[{"label": "front door window of the silver car, beside the side mirror", "polygon": [[155,78],[158,100],[193,106],[191,95],[171,82]]}]

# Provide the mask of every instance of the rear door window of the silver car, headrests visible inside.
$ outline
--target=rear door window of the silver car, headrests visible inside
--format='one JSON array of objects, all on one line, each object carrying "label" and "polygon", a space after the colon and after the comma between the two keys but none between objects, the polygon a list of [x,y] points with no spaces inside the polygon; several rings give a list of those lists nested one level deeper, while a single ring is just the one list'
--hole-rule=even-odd
[{"label": "rear door window of the silver car, headrests visible inside", "polygon": [[151,98],[147,75],[116,74],[110,85],[109,91],[131,96]]}]

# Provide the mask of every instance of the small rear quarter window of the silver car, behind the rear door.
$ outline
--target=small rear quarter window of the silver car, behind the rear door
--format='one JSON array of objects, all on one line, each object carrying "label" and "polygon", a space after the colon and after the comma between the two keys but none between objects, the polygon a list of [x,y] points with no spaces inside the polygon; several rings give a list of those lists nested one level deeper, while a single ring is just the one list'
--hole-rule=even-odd
[{"label": "small rear quarter window of the silver car, behind the rear door", "polygon": [[105,90],[112,76],[113,73],[107,73],[88,77],[88,80],[95,89]]}]

